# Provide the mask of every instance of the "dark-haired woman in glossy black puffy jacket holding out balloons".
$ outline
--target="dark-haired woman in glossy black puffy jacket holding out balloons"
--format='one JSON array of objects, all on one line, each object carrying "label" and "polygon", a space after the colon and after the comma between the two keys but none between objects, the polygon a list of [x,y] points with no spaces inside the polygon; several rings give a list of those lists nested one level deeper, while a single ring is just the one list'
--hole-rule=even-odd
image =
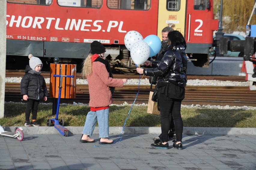
[{"label": "dark-haired woman in glossy black puffy jacket holding out balloons", "polygon": [[187,83],[186,41],[178,31],[168,33],[169,50],[164,52],[161,61],[146,61],[144,64],[153,68],[137,68],[139,74],[157,76],[158,102],[161,115],[162,138],[156,140],[151,147],[168,149],[169,117],[175,124],[176,141],[173,147],[182,149],[183,121],[181,118],[181,101],[185,96]]}]

